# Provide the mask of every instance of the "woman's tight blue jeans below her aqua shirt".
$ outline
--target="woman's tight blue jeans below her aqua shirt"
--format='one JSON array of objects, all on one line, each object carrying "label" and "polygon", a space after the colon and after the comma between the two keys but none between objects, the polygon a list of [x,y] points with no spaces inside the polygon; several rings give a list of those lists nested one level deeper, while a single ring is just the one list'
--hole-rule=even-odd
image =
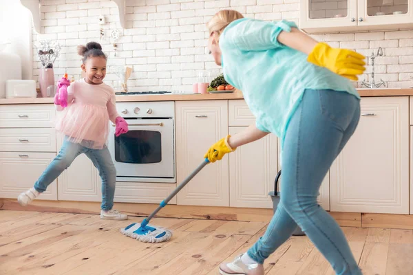
[{"label": "woman's tight blue jeans below her aqua shirt", "polygon": [[336,274],[361,274],[341,228],[317,203],[321,182],[357,128],[360,103],[332,90],[306,90],[290,120],[282,155],[282,192],[271,223],[248,256],[264,263],[299,225]]}]

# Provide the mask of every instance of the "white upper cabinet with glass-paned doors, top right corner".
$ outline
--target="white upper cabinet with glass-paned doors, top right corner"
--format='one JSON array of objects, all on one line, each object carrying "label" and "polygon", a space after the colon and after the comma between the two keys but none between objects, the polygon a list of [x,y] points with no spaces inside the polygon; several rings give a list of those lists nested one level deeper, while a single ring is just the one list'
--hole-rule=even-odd
[{"label": "white upper cabinet with glass-paned doors, top right corner", "polygon": [[308,33],[413,27],[413,0],[301,0],[300,28]]}]

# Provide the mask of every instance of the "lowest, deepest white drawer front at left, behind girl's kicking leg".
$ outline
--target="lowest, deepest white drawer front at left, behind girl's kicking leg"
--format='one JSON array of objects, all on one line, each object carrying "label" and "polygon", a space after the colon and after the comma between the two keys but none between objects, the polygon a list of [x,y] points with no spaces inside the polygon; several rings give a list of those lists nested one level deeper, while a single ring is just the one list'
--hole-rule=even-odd
[{"label": "lowest, deepest white drawer front at left, behind girl's kicking leg", "polygon": [[[32,188],[56,153],[1,152],[0,197],[15,199]],[[57,199],[56,181],[52,182],[39,199]]]}]

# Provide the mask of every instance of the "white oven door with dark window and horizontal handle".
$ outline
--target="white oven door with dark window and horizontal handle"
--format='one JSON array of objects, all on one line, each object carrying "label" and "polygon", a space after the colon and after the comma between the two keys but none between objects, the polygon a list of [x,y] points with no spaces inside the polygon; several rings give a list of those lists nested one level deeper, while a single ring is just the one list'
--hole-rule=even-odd
[{"label": "white oven door with dark window and horizontal handle", "polygon": [[118,180],[175,182],[172,119],[125,119],[129,131],[115,137],[111,124],[109,151]]}]

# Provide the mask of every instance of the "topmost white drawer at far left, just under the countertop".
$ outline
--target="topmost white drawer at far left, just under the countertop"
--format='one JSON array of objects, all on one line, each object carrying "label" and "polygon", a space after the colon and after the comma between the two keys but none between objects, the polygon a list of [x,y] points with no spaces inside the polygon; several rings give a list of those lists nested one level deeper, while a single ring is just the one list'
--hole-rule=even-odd
[{"label": "topmost white drawer at far left, just under the countertop", "polygon": [[0,105],[0,128],[52,128],[54,104]]}]

